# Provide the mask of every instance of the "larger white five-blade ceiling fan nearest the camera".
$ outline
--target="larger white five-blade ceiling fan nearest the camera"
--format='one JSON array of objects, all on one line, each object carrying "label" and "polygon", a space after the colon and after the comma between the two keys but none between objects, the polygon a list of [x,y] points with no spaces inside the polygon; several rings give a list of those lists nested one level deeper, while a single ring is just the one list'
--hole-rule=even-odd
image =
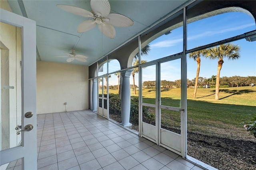
[{"label": "larger white five-blade ceiling fan nearest the camera", "polygon": [[92,18],[92,20],[86,20],[82,22],[77,32],[86,32],[98,25],[99,30],[109,38],[115,38],[115,27],[129,27],[134,22],[127,16],[110,13],[110,4],[108,0],[91,0],[92,12],[70,5],[57,5],[58,8],[77,14],[80,16]]}]

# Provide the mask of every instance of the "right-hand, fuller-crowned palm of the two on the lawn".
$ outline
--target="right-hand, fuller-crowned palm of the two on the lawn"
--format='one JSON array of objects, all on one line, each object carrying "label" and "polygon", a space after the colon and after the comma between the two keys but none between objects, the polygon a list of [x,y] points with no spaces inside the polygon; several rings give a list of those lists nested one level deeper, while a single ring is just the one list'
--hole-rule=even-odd
[{"label": "right-hand, fuller-crowned palm of the two on the lawn", "polygon": [[232,43],[221,44],[217,47],[211,47],[208,49],[206,57],[210,59],[218,59],[218,69],[216,75],[216,89],[215,89],[215,100],[219,99],[219,87],[220,87],[220,70],[224,63],[223,59],[228,58],[230,60],[238,59],[240,57],[239,45]]}]

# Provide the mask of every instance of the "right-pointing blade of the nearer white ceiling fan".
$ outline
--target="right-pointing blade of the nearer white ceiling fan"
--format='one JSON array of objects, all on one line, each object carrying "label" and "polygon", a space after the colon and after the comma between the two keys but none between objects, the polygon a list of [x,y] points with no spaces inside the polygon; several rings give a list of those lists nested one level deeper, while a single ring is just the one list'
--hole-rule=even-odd
[{"label": "right-pointing blade of the nearer white ceiling fan", "polygon": [[103,21],[115,27],[129,27],[134,25],[134,22],[127,16],[115,13],[109,14]]}]

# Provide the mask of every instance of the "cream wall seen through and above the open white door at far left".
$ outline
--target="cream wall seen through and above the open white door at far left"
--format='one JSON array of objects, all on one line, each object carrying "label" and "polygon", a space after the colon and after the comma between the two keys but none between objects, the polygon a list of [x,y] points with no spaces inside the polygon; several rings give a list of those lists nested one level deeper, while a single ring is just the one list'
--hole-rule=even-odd
[{"label": "cream wall seen through and above the open white door at far left", "polygon": [[[0,8],[12,12],[7,1]],[[0,23],[1,48],[1,148],[17,146],[21,135],[14,128],[21,124],[21,29]],[[12,86],[12,89],[6,87]],[[5,87],[5,88],[4,88]]]}]

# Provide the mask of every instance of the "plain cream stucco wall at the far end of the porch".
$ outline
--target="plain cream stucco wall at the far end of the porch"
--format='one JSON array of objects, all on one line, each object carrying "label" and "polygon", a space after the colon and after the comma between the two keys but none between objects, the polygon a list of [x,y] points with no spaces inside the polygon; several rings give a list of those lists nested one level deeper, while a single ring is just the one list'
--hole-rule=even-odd
[{"label": "plain cream stucco wall at the far end of the porch", "polygon": [[36,66],[37,114],[88,109],[87,66],[46,61]]}]

